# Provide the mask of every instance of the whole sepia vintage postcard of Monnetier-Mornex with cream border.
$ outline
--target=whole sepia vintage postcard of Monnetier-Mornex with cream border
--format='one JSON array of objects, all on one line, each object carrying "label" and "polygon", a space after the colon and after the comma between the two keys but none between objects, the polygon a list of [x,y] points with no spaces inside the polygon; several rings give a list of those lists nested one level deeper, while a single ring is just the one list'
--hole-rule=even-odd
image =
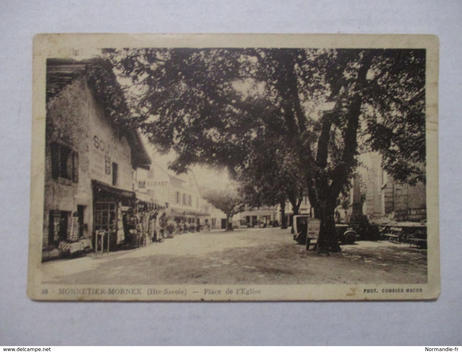
[{"label": "whole sepia vintage postcard of Monnetier-Mornex with cream border", "polygon": [[438,298],[437,37],[33,45],[30,298]]}]

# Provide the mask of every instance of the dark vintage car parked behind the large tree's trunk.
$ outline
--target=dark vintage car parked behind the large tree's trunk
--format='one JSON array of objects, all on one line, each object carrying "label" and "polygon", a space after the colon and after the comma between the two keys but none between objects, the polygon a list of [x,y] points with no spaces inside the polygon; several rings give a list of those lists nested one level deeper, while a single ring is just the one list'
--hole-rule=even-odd
[{"label": "dark vintage car parked behind the large tree's trunk", "polygon": [[[293,239],[301,245],[306,244],[307,237],[309,237],[310,240],[316,240],[314,233],[310,233],[310,235],[308,235],[308,224],[310,223],[310,221],[316,221],[317,223],[319,223],[318,219],[310,218],[310,215],[295,215],[293,217]],[[336,224],[335,231],[339,242],[343,244],[352,245],[358,238],[358,233],[345,224]]]}]

